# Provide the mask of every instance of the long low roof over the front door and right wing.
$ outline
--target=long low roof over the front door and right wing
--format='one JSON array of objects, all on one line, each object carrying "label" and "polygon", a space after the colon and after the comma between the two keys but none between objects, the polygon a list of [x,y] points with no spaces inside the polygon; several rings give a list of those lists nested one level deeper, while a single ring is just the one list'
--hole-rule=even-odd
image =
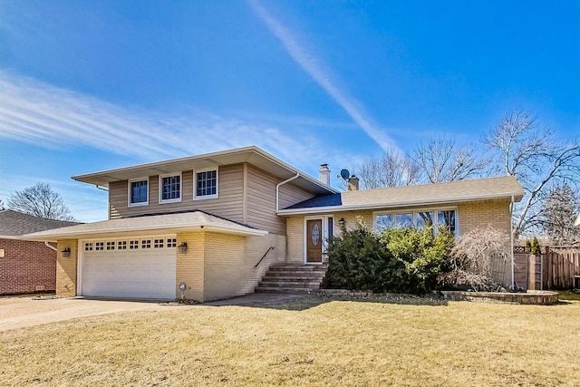
[{"label": "long low roof over the front door and right wing", "polygon": [[364,189],[311,198],[278,211],[278,215],[444,205],[474,200],[511,198],[519,201],[524,189],[513,176],[462,180],[389,189]]}]

